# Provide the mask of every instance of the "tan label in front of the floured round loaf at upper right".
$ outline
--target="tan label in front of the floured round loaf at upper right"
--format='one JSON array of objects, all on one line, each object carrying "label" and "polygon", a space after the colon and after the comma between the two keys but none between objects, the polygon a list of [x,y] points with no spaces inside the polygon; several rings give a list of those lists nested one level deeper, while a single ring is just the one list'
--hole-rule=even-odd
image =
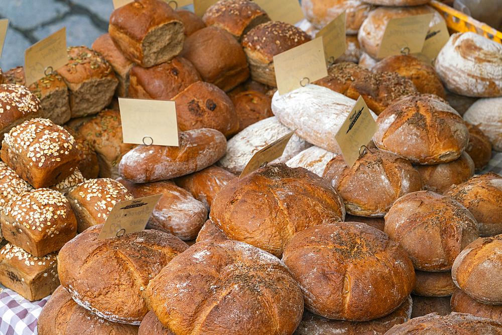
[{"label": "tan label in front of the floured round loaf at upper right", "polygon": [[389,20],[377,58],[422,51],[433,15],[413,15]]}]

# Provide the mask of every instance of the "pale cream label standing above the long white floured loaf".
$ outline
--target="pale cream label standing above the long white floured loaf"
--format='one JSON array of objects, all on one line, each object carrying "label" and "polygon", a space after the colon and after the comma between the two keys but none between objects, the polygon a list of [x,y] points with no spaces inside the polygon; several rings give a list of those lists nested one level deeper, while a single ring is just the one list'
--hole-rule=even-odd
[{"label": "pale cream label standing above the long white floured loaf", "polygon": [[[328,75],[322,39],[316,38],[274,56],[279,95]],[[302,78],[307,79],[302,81]]]}]

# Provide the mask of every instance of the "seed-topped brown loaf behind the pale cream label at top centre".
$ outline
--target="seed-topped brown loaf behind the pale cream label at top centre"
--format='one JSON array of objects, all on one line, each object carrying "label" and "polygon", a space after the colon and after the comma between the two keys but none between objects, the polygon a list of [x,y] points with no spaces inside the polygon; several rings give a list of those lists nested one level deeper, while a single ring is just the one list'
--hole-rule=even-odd
[{"label": "seed-topped brown loaf behind the pale cream label at top centre", "polygon": [[307,33],[295,26],[271,21],[250,30],[240,45],[246,54],[251,77],[266,85],[277,86],[274,56],[310,40]]}]

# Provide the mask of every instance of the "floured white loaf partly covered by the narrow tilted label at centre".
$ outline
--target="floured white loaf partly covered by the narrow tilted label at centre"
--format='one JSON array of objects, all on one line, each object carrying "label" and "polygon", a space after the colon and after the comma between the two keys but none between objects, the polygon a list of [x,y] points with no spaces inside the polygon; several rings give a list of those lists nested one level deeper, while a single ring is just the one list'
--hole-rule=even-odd
[{"label": "floured white loaf partly covered by the narrow tilted label at centre", "polygon": [[[218,161],[218,165],[238,175],[244,170],[246,164],[257,151],[274,143],[274,141],[279,140],[290,132],[291,129],[279,122],[277,117],[267,118],[254,123],[228,140],[226,152]],[[286,145],[282,156],[273,162],[287,162],[293,156],[310,146],[310,143],[299,138],[295,133]]]}]

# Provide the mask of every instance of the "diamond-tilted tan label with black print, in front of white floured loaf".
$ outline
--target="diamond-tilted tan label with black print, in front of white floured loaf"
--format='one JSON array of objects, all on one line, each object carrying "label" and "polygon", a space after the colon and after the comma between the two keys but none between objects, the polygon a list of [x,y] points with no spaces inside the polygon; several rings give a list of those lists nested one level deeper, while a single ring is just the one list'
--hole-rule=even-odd
[{"label": "diamond-tilted tan label with black print, in front of white floured loaf", "polygon": [[359,149],[365,146],[378,130],[369,108],[364,99],[359,95],[347,119],[335,135],[335,140],[342,156],[351,168],[359,158]]}]

